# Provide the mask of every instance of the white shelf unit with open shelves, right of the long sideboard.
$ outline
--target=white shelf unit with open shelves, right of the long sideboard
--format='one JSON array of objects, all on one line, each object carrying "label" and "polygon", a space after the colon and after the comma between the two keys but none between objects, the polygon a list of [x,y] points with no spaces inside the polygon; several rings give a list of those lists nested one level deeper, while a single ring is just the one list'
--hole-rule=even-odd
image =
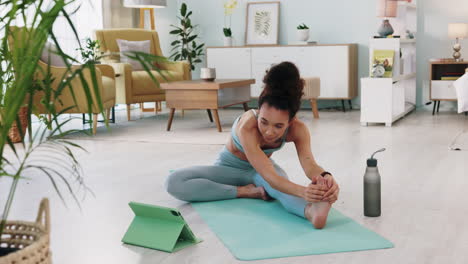
[{"label": "white shelf unit with open shelves, right of the long sideboard", "polygon": [[393,50],[392,78],[361,79],[361,125],[384,123],[386,126],[416,108],[416,39],[403,38],[406,30],[416,34],[416,3],[399,2],[398,16],[390,19],[394,35],[402,38],[370,39],[369,72],[374,50]]}]

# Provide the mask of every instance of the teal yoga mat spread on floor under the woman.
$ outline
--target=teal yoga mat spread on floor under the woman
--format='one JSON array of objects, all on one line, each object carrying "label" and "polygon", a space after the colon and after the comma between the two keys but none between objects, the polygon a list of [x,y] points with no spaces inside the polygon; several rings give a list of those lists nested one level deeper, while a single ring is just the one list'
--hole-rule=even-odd
[{"label": "teal yoga mat spread on floor under the woman", "polygon": [[391,248],[393,244],[337,210],[318,230],[278,201],[232,199],[192,207],[240,260],[282,258]]}]

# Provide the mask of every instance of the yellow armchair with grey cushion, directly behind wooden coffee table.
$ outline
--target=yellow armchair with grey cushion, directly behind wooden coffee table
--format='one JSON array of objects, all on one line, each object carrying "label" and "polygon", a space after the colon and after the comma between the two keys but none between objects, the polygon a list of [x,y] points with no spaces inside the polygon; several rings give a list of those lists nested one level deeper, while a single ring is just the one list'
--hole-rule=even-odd
[{"label": "yellow armchair with grey cushion, directly behind wooden coffee table", "polygon": [[[158,33],[154,30],[145,29],[103,29],[96,30],[96,39],[101,44],[101,52],[118,54],[120,52],[117,39],[128,41],[150,40],[150,53],[157,56],[163,56],[159,44]],[[130,121],[130,105],[144,102],[155,102],[155,113],[158,110],[158,104],[166,100],[165,91],[158,84],[154,83],[151,76],[144,70],[134,70],[128,63],[108,63],[114,67],[119,76],[116,80],[116,102],[127,105],[127,118]],[[151,73],[158,82],[190,80],[191,70],[188,62],[168,62],[158,63],[163,70],[163,75],[167,80],[156,71]]]}]

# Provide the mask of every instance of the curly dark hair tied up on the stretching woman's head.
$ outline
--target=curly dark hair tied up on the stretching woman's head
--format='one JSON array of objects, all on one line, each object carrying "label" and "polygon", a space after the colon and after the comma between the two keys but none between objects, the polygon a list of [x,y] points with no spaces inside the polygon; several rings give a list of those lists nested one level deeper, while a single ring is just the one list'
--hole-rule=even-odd
[{"label": "curly dark hair tied up on the stretching woman's head", "polygon": [[274,65],[263,78],[264,88],[258,98],[258,108],[264,103],[278,110],[287,110],[289,120],[301,107],[304,80],[294,63],[285,61]]}]

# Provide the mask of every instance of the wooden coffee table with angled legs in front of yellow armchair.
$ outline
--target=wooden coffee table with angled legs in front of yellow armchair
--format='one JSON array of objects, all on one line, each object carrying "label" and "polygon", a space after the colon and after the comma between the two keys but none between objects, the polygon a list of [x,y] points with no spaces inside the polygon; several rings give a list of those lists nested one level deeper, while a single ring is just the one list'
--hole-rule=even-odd
[{"label": "wooden coffee table with angled legs in front of yellow armchair", "polygon": [[216,79],[212,82],[189,80],[162,83],[161,88],[166,90],[166,105],[171,109],[167,131],[171,130],[176,109],[206,109],[211,122],[213,122],[211,110],[213,111],[218,131],[222,132],[218,109],[243,104],[244,111],[247,111],[247,103],[250,101],[250,85],[254,83],[255,79]]}]

